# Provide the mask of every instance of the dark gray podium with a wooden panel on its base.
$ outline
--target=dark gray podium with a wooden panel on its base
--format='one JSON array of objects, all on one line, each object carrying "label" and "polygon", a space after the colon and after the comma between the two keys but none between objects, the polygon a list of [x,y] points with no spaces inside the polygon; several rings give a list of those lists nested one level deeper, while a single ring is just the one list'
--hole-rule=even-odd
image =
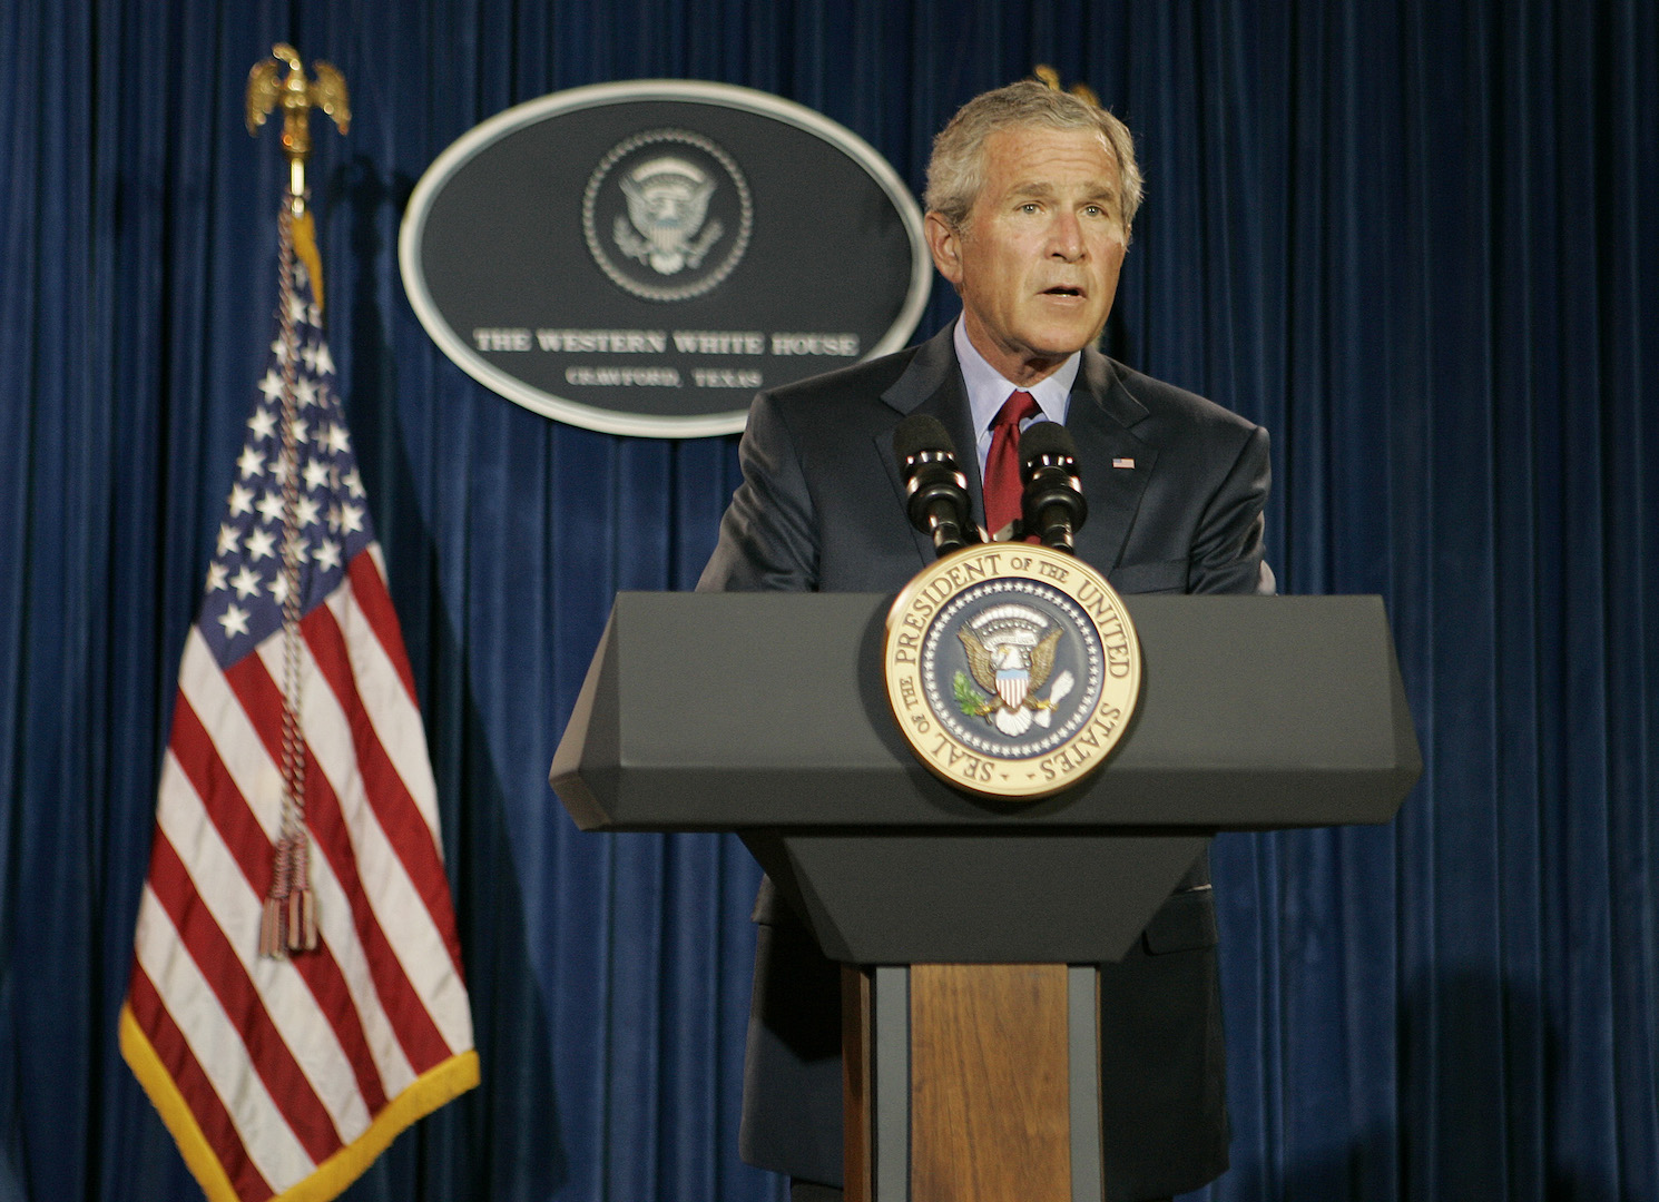
[{"label": "dark gray podium with a wooden panel on its base", "polygon": [[889,602],[619,594],[552,788],[584,831],[737,832],[848,965],[848,1202],[1098,1202],[1092,965],[1218,831],[1387,822],[1422,773],[1382,600],[1126,597],[1130,729],[1019,804],[911,756]]}]

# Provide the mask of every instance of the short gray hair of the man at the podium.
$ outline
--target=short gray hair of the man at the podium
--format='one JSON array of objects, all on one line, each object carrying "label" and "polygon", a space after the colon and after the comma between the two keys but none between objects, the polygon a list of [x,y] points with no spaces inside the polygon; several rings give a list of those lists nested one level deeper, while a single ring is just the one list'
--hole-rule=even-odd
[{"label": "short gray hair of the man at the podium", "polygon": [[952,229],[962,229],[985,182],[985,139],[999,129],[1045,126],[1085,129],[1107,139],[1118,161],[1118,197],[1123,234],[1128,235],[1141,202],[1141,174],[1135,164],[1135,136],[1128,126],[1098,104],[1058,91],[1037,80],[1020,80],[967,101],[934,138],[927,164],[929,212],[937,212]]}]

